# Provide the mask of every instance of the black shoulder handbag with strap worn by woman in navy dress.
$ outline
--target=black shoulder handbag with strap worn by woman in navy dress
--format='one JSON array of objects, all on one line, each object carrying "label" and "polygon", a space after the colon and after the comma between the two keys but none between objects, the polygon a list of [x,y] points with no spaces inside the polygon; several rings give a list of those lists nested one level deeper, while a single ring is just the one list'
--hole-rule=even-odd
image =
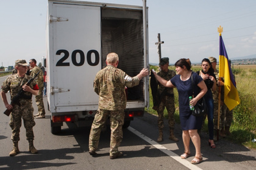
[{"label": "black shoulder handbag with strap worn by woman in navy dress", "polygon": [[[192,81],[192,97],[194,98],[194,82],[193,82],[193,73],[191,74],[191,81]],[[206,114],[206,102],[204,97],[202,97],[201,99],[199,99],[196,103],[196,105],[194,106],[194,110],[192,111],[192,115],[194,116],[203,116],[204,114]]]}]

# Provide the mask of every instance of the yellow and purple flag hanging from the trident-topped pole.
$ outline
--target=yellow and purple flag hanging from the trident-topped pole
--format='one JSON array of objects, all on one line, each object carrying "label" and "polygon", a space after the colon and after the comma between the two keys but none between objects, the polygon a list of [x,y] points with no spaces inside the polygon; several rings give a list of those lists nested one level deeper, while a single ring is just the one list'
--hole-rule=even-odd
[{"label": "yellow and purple flag hanging from the trident-topped pole", "polygon": [[240,103],[240,99],[221,34],[219,36],[219,77],[224,78],[224,103],[229,110],[232,110]]}]

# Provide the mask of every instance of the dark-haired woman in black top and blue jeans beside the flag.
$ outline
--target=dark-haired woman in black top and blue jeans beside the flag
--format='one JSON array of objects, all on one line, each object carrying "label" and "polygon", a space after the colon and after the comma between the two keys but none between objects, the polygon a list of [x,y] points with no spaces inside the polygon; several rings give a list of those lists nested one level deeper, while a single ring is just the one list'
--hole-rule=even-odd
[{"label": "dark-haired woman in black top and blue jeans beside the flag", "polygon": [[208,132],[209,132],[209,139],[208,143],[211,148],[216,148],[214,141],[213,141],[213,133],[214,133],[214,124],[213,124],[213,113],[214,113],[214,102],[212,98],[212,92],[215,91],[217,84],[216,84],[216,76],[214,74],[214,70],[211,67],[211,62],[209,59],[205,58],[202,60],[202,70],[197,71],[197,74],[200,75],[204,83],[207,86],[207,92],[204,95],[204,99],[206,101],[207,106],[207,119],[208,119]]}]

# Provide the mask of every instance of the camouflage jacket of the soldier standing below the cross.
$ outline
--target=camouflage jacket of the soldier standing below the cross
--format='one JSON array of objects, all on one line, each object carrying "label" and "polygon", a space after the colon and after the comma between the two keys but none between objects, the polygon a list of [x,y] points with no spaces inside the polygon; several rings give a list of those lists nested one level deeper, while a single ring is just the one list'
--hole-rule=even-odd
[{"label": "camouflage jacket of the soldier standing below the cross", "polygon": [[[170,79],[172,79],[176,75],[176,72],[173,71],[173,70],[168,69],[168,72],[159,71],[157,73],[157,75],[159,75],[161,78],[169,81]],[[158,86],[158,93],[159,93],[159,95],[161,95],[166,87],[163,86],[162,84],[160,84],[159,82],[158,82],[158,85],[159,85]],[[166,90],[167,90],[166,91],[167,94],[174,94],[173,88],[166,88]]]}]

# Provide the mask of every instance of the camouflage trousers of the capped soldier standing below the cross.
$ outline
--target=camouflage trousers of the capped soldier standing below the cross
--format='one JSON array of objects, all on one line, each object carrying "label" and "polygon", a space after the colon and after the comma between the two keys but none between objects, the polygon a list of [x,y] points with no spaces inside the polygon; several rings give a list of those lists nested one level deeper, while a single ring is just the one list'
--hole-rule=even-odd
[{"label": "camouflage trousers of the capped soldier standing below the cross", "polygon": [[164,96],[161,99],[161,102],[158,106],[157,109],[157,114],[158,114],[158,129],[162,130],[163,129],[163,111],[166,110],[168,112],[168,124],[169,124],[169,128],[173,129],[174,128],[174,112],[175,112],[175,106],[174,106],[174,97],[170,97],[170,96]]}]

